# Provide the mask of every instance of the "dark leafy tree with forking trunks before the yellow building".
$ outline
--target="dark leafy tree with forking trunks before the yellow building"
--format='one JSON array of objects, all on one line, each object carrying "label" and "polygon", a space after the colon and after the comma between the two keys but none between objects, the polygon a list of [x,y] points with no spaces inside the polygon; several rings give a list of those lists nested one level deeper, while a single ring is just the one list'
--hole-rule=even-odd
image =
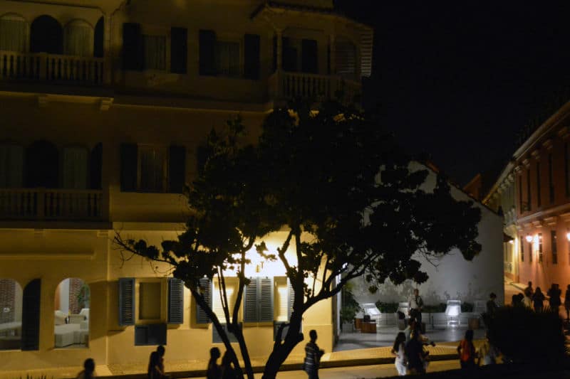
[{"label": "dark leafy tree with forking trunks before the yellow building", "polygon": [[[236,269],[233,317],[223,285],[220,297],[248,378],[253,373],[237,310],[249,281],[244,268],[252,247],[265,260],[281,262],[294,290],[289,328],[279,329],[264,378],[274,378],[303,341],[298,331],[307,309],[338,294],[350,279],[366,275],[371,290],[387,278],[396,284],[424,282],[427,274],[413,260],[415,252],[437,258],[457,247],[470,260],[480,251],[475,242],[480,210],[452,198],[442,176],[435,188],[424,188],[427,171],[410,170],[410,159],[373,115],[336,102],[324,103],[318,112],[302,104],[292,110],[269,114],[255,145],[239,145],[244,132],[239,119],[228,123],[226,133],[209,134],[199,152],[199,176],[188,188],[195,213],[178,240],[162,242],[159,249],[115,236],[123,250],[172,265],[172,274],[184,280],[239,367],[199,290],[204,275],[223,284],[226,270]],[[269,254],[264,236],[284,225],[286,237]]]}]

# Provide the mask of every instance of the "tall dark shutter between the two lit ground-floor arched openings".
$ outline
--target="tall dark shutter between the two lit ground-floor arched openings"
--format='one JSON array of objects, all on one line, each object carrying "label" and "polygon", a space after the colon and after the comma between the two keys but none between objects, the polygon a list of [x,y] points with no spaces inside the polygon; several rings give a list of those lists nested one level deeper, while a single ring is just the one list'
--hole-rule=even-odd
[{"label": "tall dark shutter between the two lit ground-floor arched openings", "polygon": [[41,279],[33,279],[24,288],[22,301],[22,350],[40,349],[40,301]]}]

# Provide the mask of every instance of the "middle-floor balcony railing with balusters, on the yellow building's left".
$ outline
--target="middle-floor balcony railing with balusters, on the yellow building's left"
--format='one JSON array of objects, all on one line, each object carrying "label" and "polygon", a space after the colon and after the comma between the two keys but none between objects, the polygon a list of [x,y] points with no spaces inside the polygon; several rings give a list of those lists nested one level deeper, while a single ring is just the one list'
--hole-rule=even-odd
[{"label": "middle-floor balcony railing with balusters, on the yellow building's left", "polygon": [[0,219],[103,219],[103,191],[47,188],[0,188]]}]

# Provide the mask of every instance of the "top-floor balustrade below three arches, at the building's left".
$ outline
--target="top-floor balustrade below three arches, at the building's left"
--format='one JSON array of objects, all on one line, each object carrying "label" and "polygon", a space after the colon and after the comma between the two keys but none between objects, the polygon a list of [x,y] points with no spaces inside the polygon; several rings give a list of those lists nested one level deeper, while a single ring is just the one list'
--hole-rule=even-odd
[{"label": "top-floor balustrade below three arches, at the building's left", "polygon": [[0,50],[0,80],[103,84],[103,58]]}]

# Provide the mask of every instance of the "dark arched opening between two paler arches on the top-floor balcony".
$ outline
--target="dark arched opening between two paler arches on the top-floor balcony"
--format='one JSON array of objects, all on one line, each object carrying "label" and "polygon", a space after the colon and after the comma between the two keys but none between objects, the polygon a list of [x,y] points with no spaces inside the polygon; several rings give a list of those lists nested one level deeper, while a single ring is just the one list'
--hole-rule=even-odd
[{"label": "dark arched opening between two paler arches on the top-floor balcony", "polygon": [[31,53],[61,54],[63,31],[60,23],[51,16],[39,16],[30,26]]}]

